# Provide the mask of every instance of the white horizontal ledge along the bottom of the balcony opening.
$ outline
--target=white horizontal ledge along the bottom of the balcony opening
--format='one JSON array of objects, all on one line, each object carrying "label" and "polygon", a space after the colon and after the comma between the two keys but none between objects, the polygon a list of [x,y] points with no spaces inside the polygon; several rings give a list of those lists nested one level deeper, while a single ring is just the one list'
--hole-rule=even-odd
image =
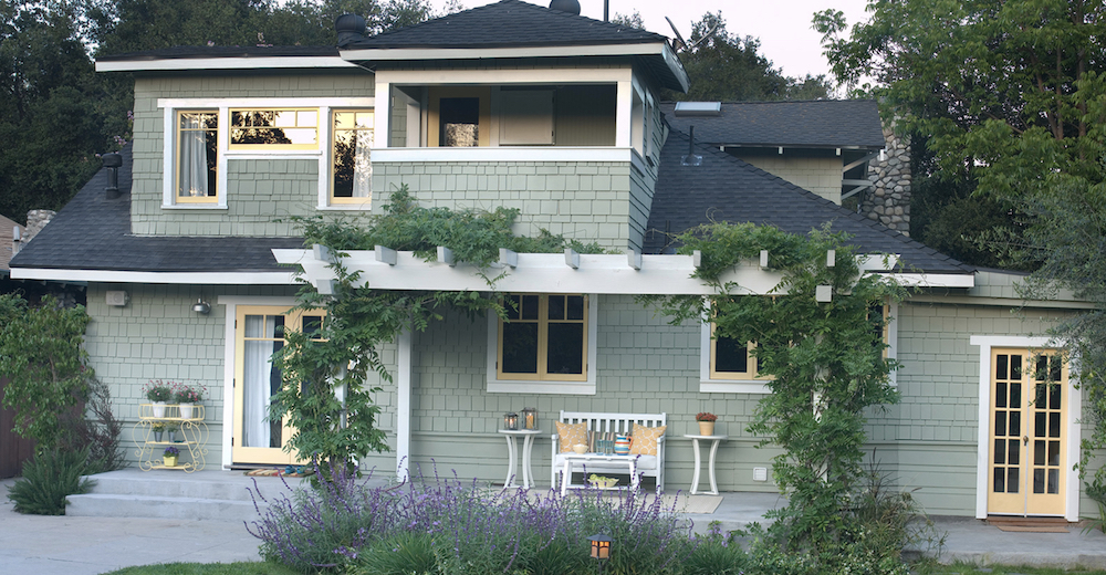
[{"label": "white horizontal ledge along the bottom of the balcony opening", "polygon": [[486,146],[472,148],[373,148],[373,164],[417,161],[630,161],[633,148],[606,146]]}]

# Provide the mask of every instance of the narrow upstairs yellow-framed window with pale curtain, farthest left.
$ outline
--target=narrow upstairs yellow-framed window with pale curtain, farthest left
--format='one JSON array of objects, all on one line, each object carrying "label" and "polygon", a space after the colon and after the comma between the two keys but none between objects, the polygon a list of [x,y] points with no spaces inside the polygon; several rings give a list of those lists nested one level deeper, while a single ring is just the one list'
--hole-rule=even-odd
[{"label": "narrow upstairs yellow-framed window with pale curtain, farthest left", "polygon": [[218,202],[218,111],[177,113],[177,169],[174,186],[177,202]]}]

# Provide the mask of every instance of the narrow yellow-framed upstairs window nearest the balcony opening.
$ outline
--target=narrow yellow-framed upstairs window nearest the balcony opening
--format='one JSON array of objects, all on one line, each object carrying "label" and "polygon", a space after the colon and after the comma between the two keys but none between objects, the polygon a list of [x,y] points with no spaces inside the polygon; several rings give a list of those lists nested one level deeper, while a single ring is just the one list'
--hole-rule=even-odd
[{"label": "narrow yellow-framed upstairs window nearest the balcony opening", "polygon": [[373,111],[334,112],[331,203],[365,203],[373,197]]}]

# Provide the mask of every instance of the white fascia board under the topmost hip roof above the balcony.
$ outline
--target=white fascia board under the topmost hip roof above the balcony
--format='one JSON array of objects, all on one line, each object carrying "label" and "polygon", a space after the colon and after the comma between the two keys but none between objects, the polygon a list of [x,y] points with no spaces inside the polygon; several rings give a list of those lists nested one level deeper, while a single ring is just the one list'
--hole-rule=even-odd
[{"label": "white fascia board under the topmost hip roof above the balcony", "polygon": [[[348,61],[483,60],[502,58],[641,56],[668,51],[665,42],[532,48],[368,48],[341,50]],[[670,52],[670,51],[669,51]],[[98,67],[97,67],[98,70]]]}]

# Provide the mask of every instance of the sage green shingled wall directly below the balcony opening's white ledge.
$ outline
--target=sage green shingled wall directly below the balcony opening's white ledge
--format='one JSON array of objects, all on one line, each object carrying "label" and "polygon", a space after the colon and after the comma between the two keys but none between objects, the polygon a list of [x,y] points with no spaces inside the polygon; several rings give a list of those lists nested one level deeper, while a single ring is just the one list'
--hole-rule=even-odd
[{"label": "sage green shingled wall directly below the balcony opening's white ledge", "polygon": [[425,206],[518,208],[521,236],[544,228],[609,249],[633,244],[627,163],[388,161],[375,163],[373,170],[376,205],[387,203],[386,194],[406,184]]}]

